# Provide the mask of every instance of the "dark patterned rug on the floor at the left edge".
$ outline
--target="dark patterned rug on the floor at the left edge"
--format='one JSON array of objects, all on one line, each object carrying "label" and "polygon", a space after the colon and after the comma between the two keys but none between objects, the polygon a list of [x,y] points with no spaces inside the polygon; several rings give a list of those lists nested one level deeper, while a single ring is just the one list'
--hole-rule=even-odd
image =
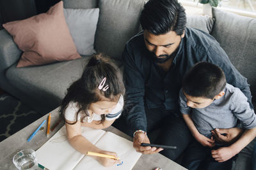
[{"label": "dark patterned rug on the floor at the left edge", "polygon": [[42,115],[31,110],[10,94],[0,95],[0,141],[31,124]]}]

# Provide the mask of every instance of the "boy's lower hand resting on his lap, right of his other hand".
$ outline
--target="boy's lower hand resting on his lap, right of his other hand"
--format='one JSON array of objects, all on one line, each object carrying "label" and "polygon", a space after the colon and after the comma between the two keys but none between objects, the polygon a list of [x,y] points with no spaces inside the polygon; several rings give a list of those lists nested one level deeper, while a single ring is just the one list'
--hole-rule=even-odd
[{"label": "boy's lower hand resting on his lap, right of his other hand", "polygon": [[212,150],[212,158],[218,162],[224,162],[236,155],[236,152],[232,150],[229,146],[218,148],[218,150]]}]

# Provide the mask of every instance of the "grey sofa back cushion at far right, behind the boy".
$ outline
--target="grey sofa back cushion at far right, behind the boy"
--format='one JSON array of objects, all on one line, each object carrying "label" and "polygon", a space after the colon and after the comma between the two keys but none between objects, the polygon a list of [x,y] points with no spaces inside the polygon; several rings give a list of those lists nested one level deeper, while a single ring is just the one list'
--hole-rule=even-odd
[{"label": "grey sofa back cushion at far right, behind the boy", "polygon": [[256,96],[256,18],[243,17],[234,13],[212,8],[215,18],[212,36],[220,43],[232,64],[248,83]]}]

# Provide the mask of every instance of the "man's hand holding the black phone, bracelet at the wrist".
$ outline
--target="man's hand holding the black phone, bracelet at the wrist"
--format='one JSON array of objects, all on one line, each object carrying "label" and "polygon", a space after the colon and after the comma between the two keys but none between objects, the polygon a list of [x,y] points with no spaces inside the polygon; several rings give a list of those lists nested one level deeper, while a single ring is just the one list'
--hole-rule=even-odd
[{"label": "man's hand holding the black phone, bracelet at the wrist", "polygon": [[150,143],[148,137],[143,134],[143,132],[137,132],[133,138],[133,147],[136,149],[137,152],[143,154],[152,154],[157,153],[163,150],[163,148],[156,148],[150,146],[140,146],[141,143]]}]

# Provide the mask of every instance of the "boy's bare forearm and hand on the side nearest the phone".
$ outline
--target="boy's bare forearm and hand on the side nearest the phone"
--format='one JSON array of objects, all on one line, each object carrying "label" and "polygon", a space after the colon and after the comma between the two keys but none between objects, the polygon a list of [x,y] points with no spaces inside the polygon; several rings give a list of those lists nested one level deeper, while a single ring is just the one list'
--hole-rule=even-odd
[{"label": "boy's bare forearm and hand on the side nearest the phone", "polygon": [[213,139],[209,139],[209,138],[205,137],[204,135],[200,134],[200,132],[198,132],[190,115],[182,114],[182,117],[184,118],[186,124],[188,125],[189,130],[191,131],[192,136],[194,136],[196,141],[201,143],[203,146],[208,146],[211,148],[215,145]]}]

